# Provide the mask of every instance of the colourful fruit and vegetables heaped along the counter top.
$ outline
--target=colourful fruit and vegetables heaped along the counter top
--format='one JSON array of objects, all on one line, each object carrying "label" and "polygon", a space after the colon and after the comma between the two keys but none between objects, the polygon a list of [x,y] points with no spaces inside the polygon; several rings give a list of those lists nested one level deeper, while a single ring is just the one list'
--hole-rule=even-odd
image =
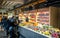
[{"label": "colourful fruit and vegetables heaped along the counter top", "polygon": [[36,22],[35,23],[24,22],[24,23],[20,23],[19,25],[32,29],[43,35],[51,36],[52,38],[59,38],[60,35],[60,30],[58,28],[54,28],[53,26],[49,26],[49,25],[44,25]]}]

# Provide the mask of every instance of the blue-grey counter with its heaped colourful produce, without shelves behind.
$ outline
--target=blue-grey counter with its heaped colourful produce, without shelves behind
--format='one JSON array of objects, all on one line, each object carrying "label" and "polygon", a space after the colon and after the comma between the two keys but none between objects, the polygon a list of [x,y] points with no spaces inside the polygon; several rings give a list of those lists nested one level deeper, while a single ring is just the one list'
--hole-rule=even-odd
[{"label": "blue-grey counter with its heaped colourful produce, without shelves behind", "polygon": [[[19,31],[25,38],[59,38],[60,30],[48,25],[35,25],[36,23],[21,23]],[[54,29],[54,30],[53,30]]]}]

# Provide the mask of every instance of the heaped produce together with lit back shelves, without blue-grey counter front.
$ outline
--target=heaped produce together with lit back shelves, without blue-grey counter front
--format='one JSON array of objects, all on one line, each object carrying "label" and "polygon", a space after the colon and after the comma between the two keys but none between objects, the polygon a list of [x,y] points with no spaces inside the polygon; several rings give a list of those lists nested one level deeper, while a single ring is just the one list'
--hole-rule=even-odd
[{"label": "heaped produce together with lit back shelves, without blue-grey counter front", "polygon": [[[26,17],[29,22],[26,22]],[[48,8],[32,10],[25,14],[19,14],[19,19],[23,20],[19,26],[32,29],[39,34],[47,35],[52,38],[59,38],[60,29],[54,28],[50,25],[50,12]]]}]

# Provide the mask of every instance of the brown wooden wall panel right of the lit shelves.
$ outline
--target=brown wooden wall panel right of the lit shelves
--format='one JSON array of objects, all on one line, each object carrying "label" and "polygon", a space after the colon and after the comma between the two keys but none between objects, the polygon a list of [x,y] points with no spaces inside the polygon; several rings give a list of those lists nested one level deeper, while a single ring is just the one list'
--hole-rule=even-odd
[{"label": "brown wooden wall panel right of the lit shelves", "polygon": [[60,7],[49,7],[50,9],[50,25],[60,29]]}]

